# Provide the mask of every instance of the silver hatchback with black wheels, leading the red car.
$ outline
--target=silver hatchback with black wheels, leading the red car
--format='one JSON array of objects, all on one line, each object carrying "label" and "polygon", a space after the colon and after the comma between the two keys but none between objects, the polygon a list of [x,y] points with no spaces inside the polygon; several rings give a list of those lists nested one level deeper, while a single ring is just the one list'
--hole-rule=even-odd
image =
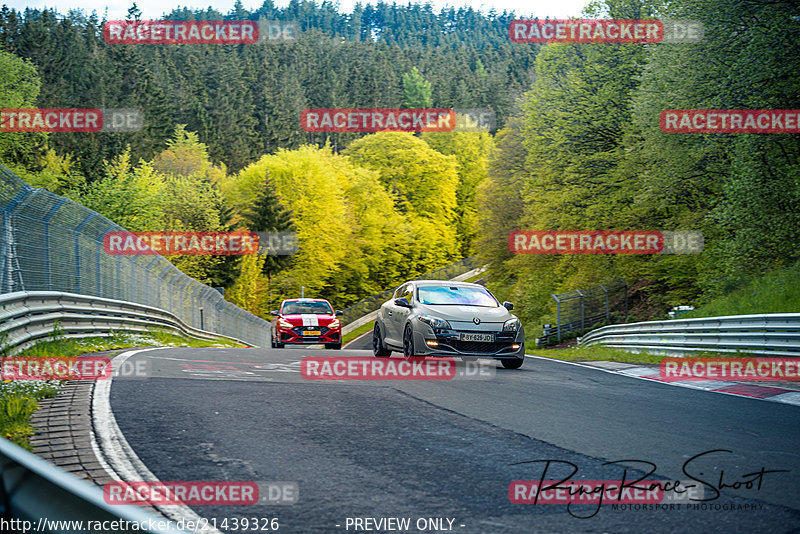
[{"label": "silver hatchback with black wheels, leading the red car", "polygon": [[525,361],[525,332],[513,308],[478,284],[406,282],[378,310],[372,352],[496,358],[506,369],[518,369]]}]

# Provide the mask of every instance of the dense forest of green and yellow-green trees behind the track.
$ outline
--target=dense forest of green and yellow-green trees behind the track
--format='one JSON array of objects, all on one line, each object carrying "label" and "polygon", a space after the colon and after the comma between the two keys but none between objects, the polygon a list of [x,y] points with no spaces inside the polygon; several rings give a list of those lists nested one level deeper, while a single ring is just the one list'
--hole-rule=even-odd
[{"label": "dense forest of green and yellow-green trees behind the track", "polygon": [[[130,18],[138,16],[131,9]],[[295,41],[108,45],[96,15],[0,10],[0,107],[139,108],[134,133],[0,132],[0,162],[130,230],[294,229],[290,258],[177,257],[260,315],[304,285],[344,307],[477,253],[529,327],[622,277],[635,318],[800,253],[792,134],[667,134],[664,109],[798,109],[792,0],[597,0],[700,20],[697,44],[515,44],[514,14],[267,1],[166,19],[293,20]],[[491,133],[307,133],[305,108],[491,108]],[[702,230],[699,255],[513,255],[513,230]],[[311,294],[311,293],[309,293]]]}]

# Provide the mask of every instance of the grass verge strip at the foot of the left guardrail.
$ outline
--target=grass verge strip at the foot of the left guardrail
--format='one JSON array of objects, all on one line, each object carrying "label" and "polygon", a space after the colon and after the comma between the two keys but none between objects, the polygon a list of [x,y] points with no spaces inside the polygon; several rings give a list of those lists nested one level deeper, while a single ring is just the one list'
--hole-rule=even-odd
[{"label": "grass verge strip at the foot of the left guardrail", "polygon": [[[0,339],[0,353],[5,355],[5,339]],[[202,340],[152,329],[147,333],[132,334],[113,332],[108,337],[72,339],[63,337],[61,326],[56,323],[48,339],[21,351],[16,356],[27,357],[72,357],[92,352],[102,352],[130,347],[240,347],[227,339]],[[58,380],[6,380],[0,382],[0,436],[20,447],[32,450],[30,438],[34,434],[30,424],[31,415],[38,409],[38,401],[58,394],[62,382]]]}]

